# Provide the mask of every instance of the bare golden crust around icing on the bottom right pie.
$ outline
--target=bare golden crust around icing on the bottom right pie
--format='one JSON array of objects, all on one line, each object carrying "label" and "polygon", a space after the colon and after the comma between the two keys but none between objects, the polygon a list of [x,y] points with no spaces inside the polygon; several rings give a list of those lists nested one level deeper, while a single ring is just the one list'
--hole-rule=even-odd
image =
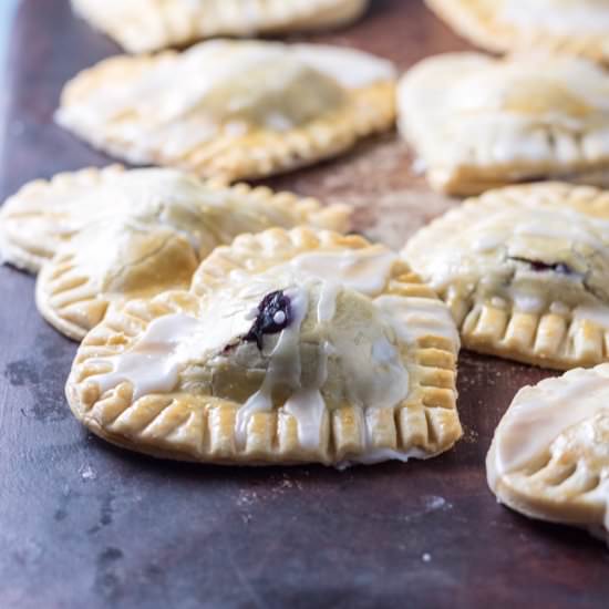
[{"label": "bare golden crust around icing on the bottom right pie", "polygon": [[[595,372],[596,369],[571,370],[561,379],[575,380]],[[540,390],[556,381],[546,379],[534,389]],[[543,400],[541,391],[539,399]],[[517,398],[513,405],[516,403]],[[577,409],[577,403],[572,407]],[[500,433],[502,423],[486,457],[488,484],[500,503],[531,518],[580,526],[593,535],[602,531],[602,536],[609,538],[605,530],[607,494],[603,496],[609,471],[606,448],[609,443],[609,410],[599,411],[565,430],[544,454],[503,475],[497,474],[495,466],[496,437]]]}]

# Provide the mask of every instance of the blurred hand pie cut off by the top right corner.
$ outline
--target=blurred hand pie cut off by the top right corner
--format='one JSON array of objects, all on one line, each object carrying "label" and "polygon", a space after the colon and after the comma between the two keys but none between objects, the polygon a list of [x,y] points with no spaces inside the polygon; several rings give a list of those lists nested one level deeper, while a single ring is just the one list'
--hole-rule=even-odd
[{"label": "blurred hand pie cut off by the top right corner", "polygon": [[460,34],[492,51],[539,48],[609,60],[606,0],[426,0]]}]

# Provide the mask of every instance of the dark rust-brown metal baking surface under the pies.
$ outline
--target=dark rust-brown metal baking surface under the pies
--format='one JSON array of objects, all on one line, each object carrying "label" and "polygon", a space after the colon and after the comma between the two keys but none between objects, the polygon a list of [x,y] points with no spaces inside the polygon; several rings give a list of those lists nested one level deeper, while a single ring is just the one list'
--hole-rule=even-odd
[{"label": "dark rust-brown metal baking surface under the pies", "polygon": [[[401,69],[465,44],[415,0],[373,0],[361,24],[313,40]],[[117,52],[66,0],[24,0],[13,31],[1,192],[107,158],[55,127],[61,84]],[[347,200],[358,228],[400,246],[453,202],[394,136],[272,180]],[[31,277],[0,268],[0,607],[607,607],[609,555],[585,533],[497,505],[484,457],[516,390],[548,372],[463,354],[466,429],[438,458],[238,469],[112,447],[71,416],[75,345],[37,314]]]}]

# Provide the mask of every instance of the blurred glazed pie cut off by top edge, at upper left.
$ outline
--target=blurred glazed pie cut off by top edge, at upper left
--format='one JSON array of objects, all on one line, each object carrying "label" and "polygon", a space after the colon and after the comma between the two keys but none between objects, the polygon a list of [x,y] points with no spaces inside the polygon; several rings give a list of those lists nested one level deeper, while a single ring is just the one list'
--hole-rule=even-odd
[{"label": "blurred glazed pie cut off by top edge, at upper left", "polygon": [[324,30],[355,21],[369,0],[72,0],[74,11],[132,53],[217,35]]}]

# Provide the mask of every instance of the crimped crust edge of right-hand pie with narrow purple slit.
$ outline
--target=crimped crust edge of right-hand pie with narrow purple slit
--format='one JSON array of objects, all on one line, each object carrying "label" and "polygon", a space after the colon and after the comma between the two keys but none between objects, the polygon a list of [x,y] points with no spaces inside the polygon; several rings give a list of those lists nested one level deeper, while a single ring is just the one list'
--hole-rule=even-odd
[{"label": "crimped crust edge of right-hand pie with narrow purple slit", "polygon": [[[489,190],[437,218],[407,244],[404,256],[429,251],[475,223],[497,206],[527,200],[554,203],[592,217],[609,219],[609,192],[591,186],[544,183]],[[421,269],[419,269],[421,272]],[[422,273],[424,276],[424,273]],[[569,370],[609,360],[609,331],[591,320],[574,321],[571,310],[547,310],[540,314],[516,310],[513,302],[481,302],[455,292],[442,295],[460,329],[463,347],[478,353],[506,358],[541,368]]]}]

